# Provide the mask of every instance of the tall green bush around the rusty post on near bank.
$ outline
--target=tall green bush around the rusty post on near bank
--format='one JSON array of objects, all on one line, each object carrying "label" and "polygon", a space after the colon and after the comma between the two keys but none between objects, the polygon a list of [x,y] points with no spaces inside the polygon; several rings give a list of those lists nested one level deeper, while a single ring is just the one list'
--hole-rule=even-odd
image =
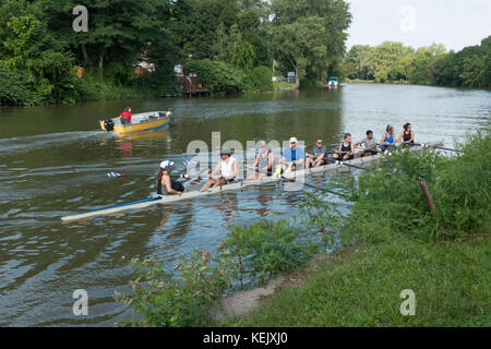
[{"label": "tall green bush around the rusty post on near bank", "polygon": [[[344,229],[372,243],[396,239],[434,241],[489,230],[489,135],[472,135],[463,153],[446,156],[432,149],[399,151],[390,161],[352,181],[351,206]],[[430,212],[419,180],[424,179],[434,201]]]}]

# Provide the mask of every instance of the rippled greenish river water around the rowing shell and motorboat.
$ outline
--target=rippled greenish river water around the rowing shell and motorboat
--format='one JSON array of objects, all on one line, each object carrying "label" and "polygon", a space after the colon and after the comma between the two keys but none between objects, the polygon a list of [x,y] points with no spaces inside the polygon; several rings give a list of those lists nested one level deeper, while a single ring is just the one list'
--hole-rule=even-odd
[{"label": "rippled greenish river water around the rowing shell and motorboat", "polygon": [[[98,130],[98,120],[173,109],[168,128],[129,136]],[[188,144],[296,136],[380,139],[387,123],[411,122],[417,141],[453,146],[467,131],[489,130],[491,93],[424,86],[344,85],[258,96],[132,99],[43,107],[0,107],[0,326],[112,326],[130,310],[112,300],[128,290],[132,256],[155,255],[169,269],[194,249],[214,250],[230,225],[291,215],[301,192],[253,188],[125,214],[61,224],[60,217],[146,197],[147,178],[110,179],[109,171],[152,174],[164,158],[183,169]],[[314,182],[326,177],[309,179]],[[333,197],[333,200],[336,200]],[[125,256],[127,260],[122,257]],[[72,296],[88,293],[88,316]]]}]

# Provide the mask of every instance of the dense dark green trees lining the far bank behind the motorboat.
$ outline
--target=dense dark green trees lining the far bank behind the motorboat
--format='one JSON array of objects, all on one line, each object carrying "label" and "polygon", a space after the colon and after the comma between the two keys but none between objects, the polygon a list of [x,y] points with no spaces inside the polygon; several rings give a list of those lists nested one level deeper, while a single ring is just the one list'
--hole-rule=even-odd
[{"label": "dense dark green trees lining the far bank behind the motorboat", "polygon": [[176,63],[213,93],[272,89],[273,69],[299,85],[336,72],[350,22],[345,0],[2,0],[0,105],[175,94]]}]

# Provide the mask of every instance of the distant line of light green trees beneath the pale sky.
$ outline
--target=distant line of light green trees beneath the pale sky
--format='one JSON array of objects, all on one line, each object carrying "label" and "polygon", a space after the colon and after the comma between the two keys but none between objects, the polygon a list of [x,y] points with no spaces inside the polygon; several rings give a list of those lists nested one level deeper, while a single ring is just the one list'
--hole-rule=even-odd
[{"label": "distant line of light green trees beneath the pale sky", "polygon": [[491,36],[481,45],[446,52],[433,44],[415,50],[402,43],[351,47],[344,61],[351,80],[491,88]]}]

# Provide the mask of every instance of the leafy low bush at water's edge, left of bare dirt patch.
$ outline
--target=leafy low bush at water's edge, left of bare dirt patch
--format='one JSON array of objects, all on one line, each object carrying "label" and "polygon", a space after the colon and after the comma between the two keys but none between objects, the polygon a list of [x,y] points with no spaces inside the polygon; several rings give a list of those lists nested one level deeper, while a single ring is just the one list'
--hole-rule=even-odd
[{"label": "leafy low bush at water's edge, left of bare dirt patch", "polygon": [[133,308],[136,318],[121,326],[205,326],[211,305],[230,285],[231,270],[225,262],[212,266],[209,253],[196,251],[176,265],[177,275],[164,272],[154,258],[131,261],[137,278],[130,282],[132,296],[115,292],[115,300]]}]

